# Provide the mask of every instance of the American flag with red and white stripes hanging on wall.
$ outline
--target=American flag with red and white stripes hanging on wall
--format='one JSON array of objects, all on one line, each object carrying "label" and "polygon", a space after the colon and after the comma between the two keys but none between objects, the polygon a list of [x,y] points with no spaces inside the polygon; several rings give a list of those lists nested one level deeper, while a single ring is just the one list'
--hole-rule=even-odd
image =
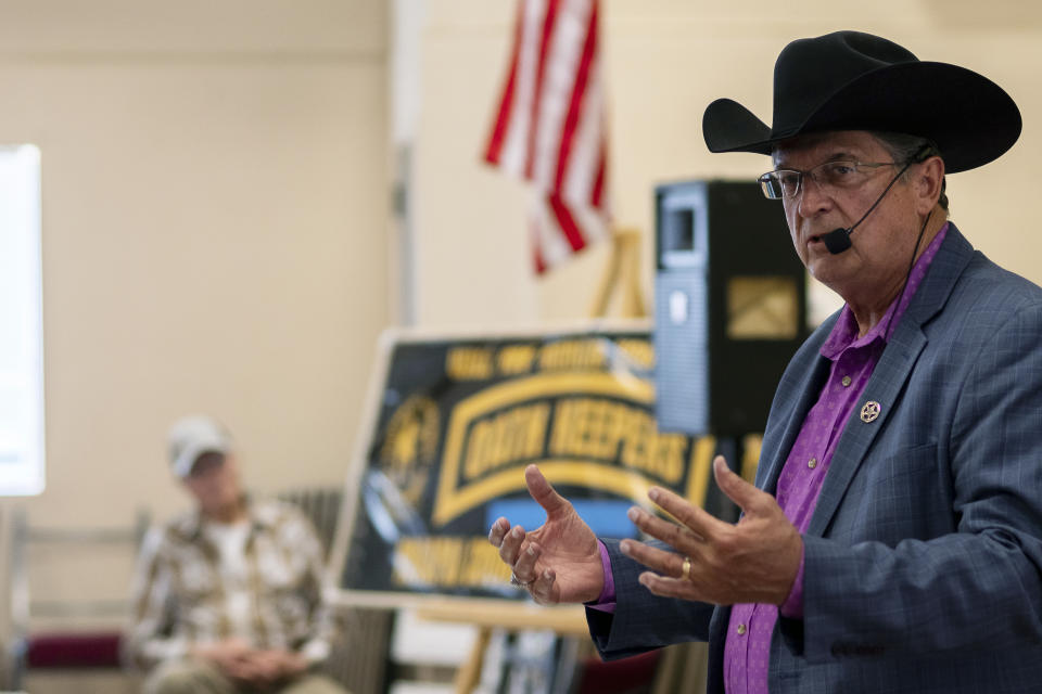
[{"label": "American flag with red and white stripes hanging on wall", "polygon": [[609,235],[598,0],[520,0],[485,160],[531,181],[535,270]]}]

